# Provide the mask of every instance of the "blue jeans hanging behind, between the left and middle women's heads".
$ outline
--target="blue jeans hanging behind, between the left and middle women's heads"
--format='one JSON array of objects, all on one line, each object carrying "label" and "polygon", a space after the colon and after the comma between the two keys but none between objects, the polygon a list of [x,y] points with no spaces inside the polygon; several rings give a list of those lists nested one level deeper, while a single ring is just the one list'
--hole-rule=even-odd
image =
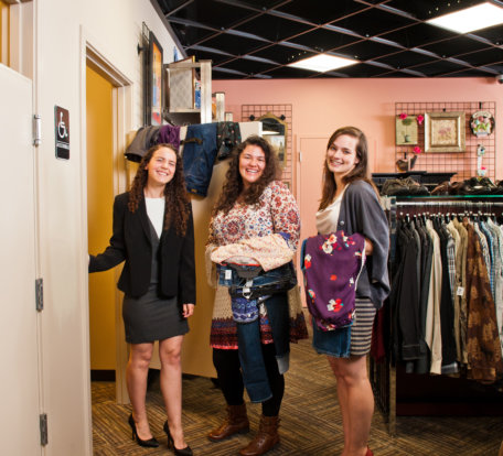
[{"label": "blue jeans hanging behind, between the left and middle women's heads", "polygon": [[216,123],[189,126],[183,141],[183,172],[188,192],[206,196],[216,158]]}]

